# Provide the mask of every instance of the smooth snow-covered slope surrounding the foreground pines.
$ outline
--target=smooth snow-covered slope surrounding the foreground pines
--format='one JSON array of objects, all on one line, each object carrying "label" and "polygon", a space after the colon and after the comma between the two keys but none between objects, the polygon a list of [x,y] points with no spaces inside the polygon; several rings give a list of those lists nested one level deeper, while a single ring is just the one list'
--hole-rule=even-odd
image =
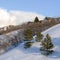
[{"label": "smooth snow-covered slope surrounding the foreground pines", "polygon": [[29,49],[23,48],[23,43],[11,51],[0,56],[0,60],[60,60],[60,24],[42,32],[49,33],[54,44],[54,53],[50,56],[40,54],[39,43],[34,43]]}]

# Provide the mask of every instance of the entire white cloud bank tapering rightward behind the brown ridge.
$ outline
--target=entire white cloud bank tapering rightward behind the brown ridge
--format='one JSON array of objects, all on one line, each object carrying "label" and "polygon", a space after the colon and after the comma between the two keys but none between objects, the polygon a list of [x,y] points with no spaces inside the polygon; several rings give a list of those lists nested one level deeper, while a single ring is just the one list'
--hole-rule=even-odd
[{"label": "entire white cloud bank tapering rightward behind the brown ridge", "polygon": [[43,20],[45,16],[39,15],[37,13],[10,10],[0,8],[0,27],[7,25],[18,25],[28,21],[34,21],[35,17]]}]

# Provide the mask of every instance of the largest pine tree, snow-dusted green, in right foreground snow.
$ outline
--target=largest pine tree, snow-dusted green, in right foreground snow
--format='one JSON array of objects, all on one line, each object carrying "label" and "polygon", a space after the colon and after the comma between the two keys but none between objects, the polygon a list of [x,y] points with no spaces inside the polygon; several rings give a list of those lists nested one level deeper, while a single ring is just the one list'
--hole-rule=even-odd
[{"label": "largest pine tree, snow-dusted green, in right foreground snow", "polygon": [[54,45],[51,41],[51,37],[49,36],[49,34],[46,35],[46,38],[44,38],[44,40],[41,42],[42,47],[40,48],[42,54],[44,55],[49,55],[53,52],[53,50],[51,50]]}]

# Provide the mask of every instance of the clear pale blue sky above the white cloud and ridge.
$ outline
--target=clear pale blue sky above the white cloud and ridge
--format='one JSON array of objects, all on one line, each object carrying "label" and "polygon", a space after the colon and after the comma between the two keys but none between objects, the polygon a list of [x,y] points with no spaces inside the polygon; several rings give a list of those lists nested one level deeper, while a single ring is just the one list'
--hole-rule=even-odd
[{"label": "clear pale blue sky above the white cloud and ridge", "polygon": [[60,16],[60,0],[0,0],[0,8]]}]

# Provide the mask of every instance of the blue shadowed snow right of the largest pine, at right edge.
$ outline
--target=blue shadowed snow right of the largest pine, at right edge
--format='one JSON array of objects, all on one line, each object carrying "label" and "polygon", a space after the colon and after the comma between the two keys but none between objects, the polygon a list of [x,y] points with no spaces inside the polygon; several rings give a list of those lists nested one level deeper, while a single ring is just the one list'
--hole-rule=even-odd
[{"label": "blue shadowed snow right of the largest pine, at right edge", "polygon": [[53,38],[52,41],[54,44],[54,52],[49,57],[60,58],[60,38]]}]

